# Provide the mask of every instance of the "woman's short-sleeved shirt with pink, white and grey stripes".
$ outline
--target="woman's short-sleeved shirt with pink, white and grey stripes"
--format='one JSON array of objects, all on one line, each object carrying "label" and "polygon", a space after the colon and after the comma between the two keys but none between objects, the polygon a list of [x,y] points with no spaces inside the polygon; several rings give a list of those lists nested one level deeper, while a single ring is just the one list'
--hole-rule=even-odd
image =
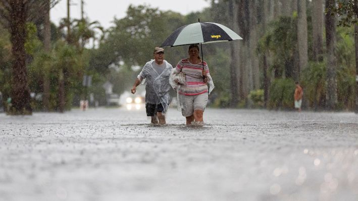
[{"label": "woman's short-sleeved shirt with pink, white and grey stripes", "polygon": [[[206,62],[203,62],[204,70],[209,75],[209,67]],[[199,95],[208,92],[208,85],[202,79],[202,62],[199,64],[191,64],[188,59],[179,61],[175,68],[176,72],[180,70],[185,73],[186,85],[180,87],[179,93],[184,95]]]}]

